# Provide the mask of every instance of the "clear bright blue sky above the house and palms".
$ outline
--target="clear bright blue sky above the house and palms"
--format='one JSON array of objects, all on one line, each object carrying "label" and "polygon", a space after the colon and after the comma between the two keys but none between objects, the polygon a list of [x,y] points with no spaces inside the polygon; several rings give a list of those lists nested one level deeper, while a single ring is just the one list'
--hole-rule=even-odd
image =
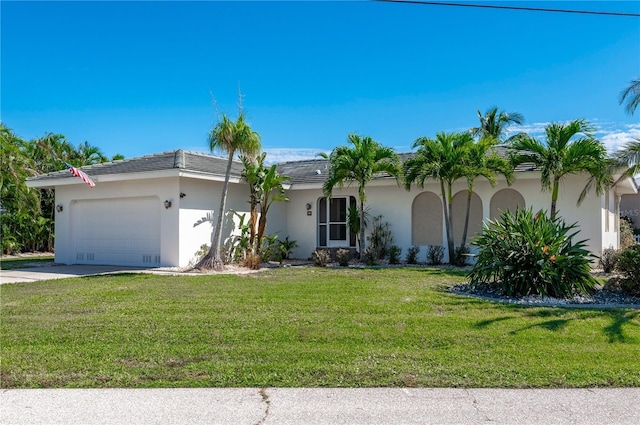
[{"label": "clear bright blue sky above the house and palms", "polygon": [[[468,2],[467,2],[468,3]],[[483,4],[640,13],[637,1]],[[498,106],[519,130],[585,118],[609,149],[640,137],[619,92],[640,18],[352,2],[0,3],[2,122],[107,155],[208,152],[243,109],[271,161],[371,136],[398,152]]]}]

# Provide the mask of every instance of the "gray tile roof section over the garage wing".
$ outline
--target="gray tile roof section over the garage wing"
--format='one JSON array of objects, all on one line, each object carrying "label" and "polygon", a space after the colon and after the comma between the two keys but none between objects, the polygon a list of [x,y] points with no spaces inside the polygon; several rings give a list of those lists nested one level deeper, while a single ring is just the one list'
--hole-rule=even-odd
[{"label": "gray tile roof section over the garage wing", "polygon": [[[196,152],[177,149],[145,155],[136,158],[123,159],[119,161],[103,162],[101,164],[87,165],[80,167],[82,171],[90,177],[104,176],[110,174],[144,173],[150,171],[163,171],[171,169],[206,173],[210,175],[224,176],[227,169],[227,159],[213,155],[206,155]],[[242,164],[234,161],[231,165],[231,176],[240,177]],[[27,180],[52,180],[59,178],[74,178],[68,170],[55,171],[53,173],[42,174],[31,177]]]}]

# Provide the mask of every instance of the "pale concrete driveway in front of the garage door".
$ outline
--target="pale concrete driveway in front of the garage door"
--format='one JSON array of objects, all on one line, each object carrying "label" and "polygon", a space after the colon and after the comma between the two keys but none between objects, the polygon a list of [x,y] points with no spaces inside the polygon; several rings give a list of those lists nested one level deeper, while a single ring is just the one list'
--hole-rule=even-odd
[{"label": "pale concrete driveway in front of the garage door", "polygon": [[27,269],[0,270],[0,284],[36,282],[38,280],[62,279],[111,273],[143,272],[142,267],[94,266],[94,265],[52,265]]}]

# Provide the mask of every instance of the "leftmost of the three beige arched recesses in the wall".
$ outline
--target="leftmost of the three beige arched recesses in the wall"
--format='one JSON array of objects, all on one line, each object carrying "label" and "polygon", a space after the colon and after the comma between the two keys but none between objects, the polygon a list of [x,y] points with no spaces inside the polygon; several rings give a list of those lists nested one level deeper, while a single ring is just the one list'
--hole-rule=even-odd
[{"label": "leftmost of the three beige arched recesses in the wall", "polygon": [[413,200],[411,244],[442,245],[442,201],[433,192],[422,192]]}]

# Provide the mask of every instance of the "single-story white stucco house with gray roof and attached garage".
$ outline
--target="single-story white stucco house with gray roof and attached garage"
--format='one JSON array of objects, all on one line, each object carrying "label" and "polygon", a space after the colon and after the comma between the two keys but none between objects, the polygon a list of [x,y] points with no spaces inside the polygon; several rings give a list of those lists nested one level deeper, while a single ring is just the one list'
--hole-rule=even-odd
[{"label": "single-story white stucco house with gray roof and attached garage", "polygon": [[[403,154],[403,156],[410,154]],[[138,158],[82,167],[96,183],[90,188],[68,170],[27,179],[35,188],[54,188],[56,203],[55,261],[62,264],[114,264],[135,266],[187,266],[200,246],[210,243],[211,226],[194,224],[207,213],[217,213],[226,159],[181,149]],[[357,199],[357,186],[336,189],[331,199],[322,193],[328,161],[285,162],[278,171],[291,180],[285,186],[290,202],[276,202],[269,211],[268,234],[297,241],[295,258],[309,258],[318,247],[355,247],[355,235],[346,225],[346,211]],[[227,208],[248,210],[249,191],[241,180],[242,165],[233,164]],[[618,220],[622,195],[638,196],[633,179],[622,181],[602,196],[590,193],[578,207],[576,201],[586,176],[569,176],[562,182],[559,214],[580,225],[580,239],[599,255],[619,244]],[[460,240],[466,206],[466,185],[454,186],[454,229]],[[540,188],[540,174],[526,165],[516,169],[508,186],[495,187],[478,180],[472,197],[469,238],[486,219],[500,210],[516,207],[546,209],[551,194]],[[391,225],[394,243],[403,253],[413,246],[446,246],[439,184],[407,191],[395,179],[380,176],[367,186],[371,216],[382,215]],[[223,237],[235,224],[227,214]]]}]

